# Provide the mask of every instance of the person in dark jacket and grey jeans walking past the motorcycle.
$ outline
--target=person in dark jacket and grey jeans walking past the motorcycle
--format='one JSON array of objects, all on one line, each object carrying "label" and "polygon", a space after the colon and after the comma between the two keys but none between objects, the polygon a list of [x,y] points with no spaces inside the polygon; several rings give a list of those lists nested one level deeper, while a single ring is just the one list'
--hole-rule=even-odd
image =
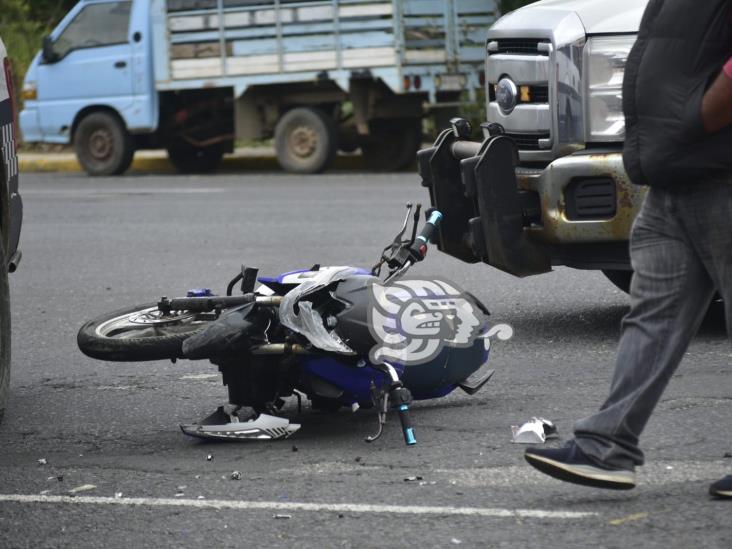
[{"label": "person in dark jacket and grey jeans walking past the motorcycle", "polygon": [[[635,487],[640,435],[715,291],[732,332],[731,10],[732,0],[650,0],[643,15],[623,82],[623,161],[650,187],[630,240],[631,308],[600,411],[565,447],[526,451],[555,478]],[[710,493],[732,498],[732,475]]]}]

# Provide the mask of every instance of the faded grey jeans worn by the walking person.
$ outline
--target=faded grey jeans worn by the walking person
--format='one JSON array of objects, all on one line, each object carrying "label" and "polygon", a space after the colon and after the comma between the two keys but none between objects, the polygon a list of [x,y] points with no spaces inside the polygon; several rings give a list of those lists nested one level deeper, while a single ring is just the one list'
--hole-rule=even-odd
[{"label": "faded grey jeans worn by the walking person", "polygon": [[732,327],[732,182],[652,188],[633,225],[630,257],[631,308],[610,396],[574,431],[586,455],[622,469],[643,464],[640,434],[715,288]]}]

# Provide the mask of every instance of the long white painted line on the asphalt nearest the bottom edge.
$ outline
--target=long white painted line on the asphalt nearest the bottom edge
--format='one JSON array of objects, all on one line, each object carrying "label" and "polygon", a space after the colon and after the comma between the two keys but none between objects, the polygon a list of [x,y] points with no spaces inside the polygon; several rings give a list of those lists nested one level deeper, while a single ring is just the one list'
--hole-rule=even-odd
[{"label": "long white painted line on the asphalt nearest the bottom edge", "polygon": [[112,498],[99,496],[40,496],[0,494],[0,503],[57,503],[75,505],[120,505],[128,507],[193,507],[240,511],[332,511],[334,513],[386,513],[397,515],[457,515],[488,518],[583,519],[598,513],[544,511],[541,509],[500,509],[490,507],[430,507],[415,505],[370,505],[360,503],[297,503],[279,501],[238,501],[172,498]]}]

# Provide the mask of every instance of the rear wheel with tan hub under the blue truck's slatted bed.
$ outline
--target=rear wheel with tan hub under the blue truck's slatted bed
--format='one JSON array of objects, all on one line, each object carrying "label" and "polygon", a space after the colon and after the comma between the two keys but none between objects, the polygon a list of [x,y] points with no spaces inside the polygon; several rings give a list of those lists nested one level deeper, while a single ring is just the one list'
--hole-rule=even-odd
[{"label": "rear wheel with tan hub under the blue truck's slatted bed", "polygon": [[275,128],[275,150],[282,169],[292,173],[320,173],[338,151],[335,122],[317,108],[287,111]]}]

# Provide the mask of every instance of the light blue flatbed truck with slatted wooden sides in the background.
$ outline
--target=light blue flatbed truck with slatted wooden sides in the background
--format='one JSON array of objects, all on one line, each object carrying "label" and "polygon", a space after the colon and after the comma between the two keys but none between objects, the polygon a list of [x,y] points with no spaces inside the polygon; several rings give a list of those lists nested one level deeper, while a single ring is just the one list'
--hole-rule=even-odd
[{"label": "light blue flatbed truck with slatted wooden sides in the background", "polygon": [[337,151],[411,163],[484,85],[495,0],[82,0],[44,39],[24,82],[27,142],[72,143],[94,175],[165,148],[213,171],[236,140],[274,138],[291,172]]}]

